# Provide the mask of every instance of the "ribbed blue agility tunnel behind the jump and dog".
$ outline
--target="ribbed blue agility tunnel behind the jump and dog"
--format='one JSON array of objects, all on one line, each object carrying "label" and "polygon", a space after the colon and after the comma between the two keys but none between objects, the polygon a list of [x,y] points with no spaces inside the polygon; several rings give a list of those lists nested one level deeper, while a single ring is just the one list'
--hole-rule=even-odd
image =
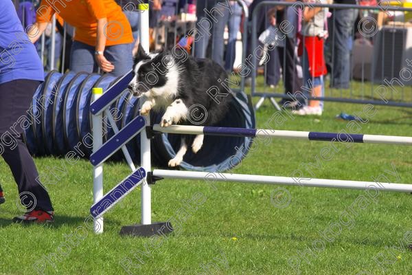
[{"label": "ribbed blue agility tunnel behind the jump and dog", "polygon": [[[81,157],[91,155],[91,95],[93,87],[106,91],[119,78],[107,74],[87,74],[56,71],[45,76],[45,82],[33,96],[32,125],[25,130],[25,142],[32,155],[62,156],[69,151]],[[125,87],[126,88],[126,87]],[[121,129],[139,115],[139,98],[125,92],[111,105],[111,113]],[[152,124],[161,120],[163,113],[151,113]],[[251,102],[244,93],[237,93],[229,106],[229,111],[218,126],[255,128],[255,114]],[[113,136],[113,129],[104,123],[104,141]],[[152,140],[152,161],[156,166],[165,167],[180,146],[178,134],[161,133]],[[203,148],[194,154],[188,150],[181,168],[198,171],[224,171],[239,164],[250,148],[252,137],[205,136]],[[126,144],[130,156],[140,162],[140,135]],[[79,151],[81,153],[79,153]],[[119,152],[111,160],[123,159]]]}]

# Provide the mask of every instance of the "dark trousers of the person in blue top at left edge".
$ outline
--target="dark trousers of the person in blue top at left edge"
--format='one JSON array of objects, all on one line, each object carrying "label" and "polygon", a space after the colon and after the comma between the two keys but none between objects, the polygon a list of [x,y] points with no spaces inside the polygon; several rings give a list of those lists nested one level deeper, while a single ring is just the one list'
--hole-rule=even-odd
[{"label": "dark trousers of the person in blue top at left edge", "polygon": [[52,211],[49,194],[39,183],[36,165],[23,142],[23,127],[27,127],[23,118],[38,85],[39,81],[26,79],[0,84],[0,153],[12,170],[21,203]]}]

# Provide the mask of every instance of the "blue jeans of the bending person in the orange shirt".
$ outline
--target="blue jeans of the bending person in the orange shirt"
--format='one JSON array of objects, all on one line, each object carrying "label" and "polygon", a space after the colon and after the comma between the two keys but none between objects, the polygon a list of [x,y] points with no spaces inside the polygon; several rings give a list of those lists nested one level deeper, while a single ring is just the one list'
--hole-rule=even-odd
[{"label": "blue jeans of the bending person in the orange shirt", "polygon": [[[124,76],[133,67],[132,56],[133,43],[107,46],[104,56],[114,66],[112,76]],[[98,72],[98,64],[95,62],[95,47],[73,41],[71,46],[70,70],[73,72]]]}]

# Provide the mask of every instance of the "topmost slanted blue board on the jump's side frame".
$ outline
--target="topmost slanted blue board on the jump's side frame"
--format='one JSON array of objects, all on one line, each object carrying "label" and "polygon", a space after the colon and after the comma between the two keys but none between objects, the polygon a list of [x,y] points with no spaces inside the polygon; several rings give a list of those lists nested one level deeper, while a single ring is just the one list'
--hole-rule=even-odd
[{"label": "topmost slanted blue board on the jump's side frame", "polygon": [[128,84],[130,81],[132,81],[133,77],[135,77],[135,72],[133,70],[130,70],[126,75],[124,75],[122,78],[119,78],[119,80],[116,81],[115,84],[113,84],[108,90],[98,98],[98,100],[95,100],[91,103],[90,105],[90,111],[93,113],[93,115],[100,115],[100,113],[103,113],[105,109],[107,109],[113,102],[119,98],[119,96],[122,96],[123,91],[128,87]]}]

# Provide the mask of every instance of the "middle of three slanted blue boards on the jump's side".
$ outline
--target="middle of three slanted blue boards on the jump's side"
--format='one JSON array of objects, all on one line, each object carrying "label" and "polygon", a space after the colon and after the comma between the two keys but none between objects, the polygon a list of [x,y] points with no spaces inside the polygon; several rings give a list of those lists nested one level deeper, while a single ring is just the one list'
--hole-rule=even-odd
[{"label": "middle of three slanted blue boards on the jump's side", "polygon": [[90,156],[90,162],[93,166],[102,164],[106,159],[116,153],[119,148],[129,142],[146,126],[146,121],[141,115],[133,118],[126,126],[122,128],[117,134],[113,135],[110,140],[105,142],[97,151]]}]

